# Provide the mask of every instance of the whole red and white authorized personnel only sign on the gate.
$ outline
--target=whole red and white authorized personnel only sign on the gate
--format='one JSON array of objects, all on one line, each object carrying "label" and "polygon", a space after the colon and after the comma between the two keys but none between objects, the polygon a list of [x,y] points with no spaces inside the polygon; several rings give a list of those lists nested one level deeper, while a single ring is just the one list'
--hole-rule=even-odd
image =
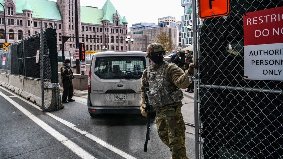
[{"label": "whole red and white authorized personnel only sign on the gate", "polygon": [[246,13],[245,79],[283,80],[283,7]]}]

